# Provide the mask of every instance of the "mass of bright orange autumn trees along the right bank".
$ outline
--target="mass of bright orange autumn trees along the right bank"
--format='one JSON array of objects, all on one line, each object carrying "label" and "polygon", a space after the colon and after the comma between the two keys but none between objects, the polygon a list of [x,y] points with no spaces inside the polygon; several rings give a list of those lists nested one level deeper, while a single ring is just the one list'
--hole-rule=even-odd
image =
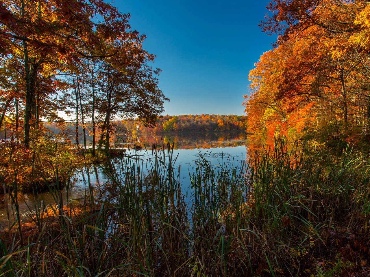
[{"label": "mass of bright orange autumn trees along the right bank", "polygon": [[278,34],[250,71],[247,131],[334,146],[370,141],[370,4],[272,1],[260,26]]}]

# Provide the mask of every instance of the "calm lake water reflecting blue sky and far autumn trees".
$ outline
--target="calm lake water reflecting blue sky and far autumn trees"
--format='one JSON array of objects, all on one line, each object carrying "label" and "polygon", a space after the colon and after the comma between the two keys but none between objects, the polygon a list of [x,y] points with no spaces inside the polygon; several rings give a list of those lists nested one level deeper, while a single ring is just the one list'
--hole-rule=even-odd
[{"label": "calm lake water reflecting blue sky and far autumn trees", "polygon": [[[199,153],[204,155],[212,165],[219,164],[234,164],[240,165],[247,156],[247,140],[246,134],[182,134],[176,136],[142,136],[134,138],[137,143],[145,146],[152,146],[153,144],[163,145],[163,143],[174,143],[173,158],[177,157],[174,164],[175,168],[181,167],[179,177],[182,186],[182,192],[185,194],[185,201],[190,201],[191,193],[189,191],[191,173],[195,168],[195,160],[198,160]],[[143,165],[148,158],[152,158],[152,151],[150,147],[147,150],[127,150],[126,153],[136,155],[143,161]],[[118,163],[117,163],[118,164]],[[145,171],[145,170],[144,170]],[[75,172],[72,178],[70,188],[68,189],[68,201],[83,201],[85,195],[88,194],[88,178],[94,190],[95,198],[104,198],[114,194],[115,190],[111,186],[110,178],[104,173],[104,165],[98,167],[91,167],[86,171],[81,169]],[[64,188],[61,191],[63,196],[63,203],[67,203],[67,190]],[[35,208],[40,206],[41,201],[43,205],[54,203],[54,196],[50,192],[31,192],[19,195],[19,210],[21,213],[21,220],[28,221],[32,216]],[[4,195],[0,195],[0,225],[7,225],[7,209],[6,202],[10,216],[14,215],[14,207],[9,203],[9,197],[6,201]]]}]

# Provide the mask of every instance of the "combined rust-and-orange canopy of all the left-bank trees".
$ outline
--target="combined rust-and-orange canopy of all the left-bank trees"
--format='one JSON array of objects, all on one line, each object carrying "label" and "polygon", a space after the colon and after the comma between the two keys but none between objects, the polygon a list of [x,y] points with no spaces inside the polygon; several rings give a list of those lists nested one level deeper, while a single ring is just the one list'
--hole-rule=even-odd
[{"label": "combined rust-and-orange canopy of all the left-bank trees", "polygon": [[155,56],[129,17],[102,0],[0,3],[1,118],[23,117],[12,133],[23,134],[24,148],[42,120],[63,121],[61,113],[75,114],[77,130],[79,120],[92,122],[108,138],[107,111],[155,121],[168,99],[158,88],[159,69],[148,64]]}]

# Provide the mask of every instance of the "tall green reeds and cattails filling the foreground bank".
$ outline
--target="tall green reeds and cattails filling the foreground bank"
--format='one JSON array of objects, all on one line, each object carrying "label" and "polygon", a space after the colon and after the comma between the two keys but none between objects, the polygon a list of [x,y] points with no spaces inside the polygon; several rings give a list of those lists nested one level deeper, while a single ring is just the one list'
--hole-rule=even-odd
[{"label": "tall green reeds and cattails filling the foreground bank", "polygon": [[35,205],[30,235],[14,222],[0,275],[368,276],[369,157],[282,141],[241,164],[199,155],[186,203],[173,146],[137,153],[107,164],[111,197],[90,186],[83,205],[63,205],[56,192],[55,205]]}]

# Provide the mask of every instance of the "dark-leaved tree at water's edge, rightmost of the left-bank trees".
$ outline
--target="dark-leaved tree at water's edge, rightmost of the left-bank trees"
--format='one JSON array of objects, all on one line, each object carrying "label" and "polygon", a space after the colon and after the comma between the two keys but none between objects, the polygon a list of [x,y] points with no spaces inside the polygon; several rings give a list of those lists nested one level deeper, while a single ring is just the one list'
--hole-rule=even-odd
[{"label": "dark-leaved tree at water's edge, rightmost of the left-bank trees", "polygon": [[[147,64],[154,59],[142,48],[136,49],[138,55],[131,60],[109,64],[102,62],[96,81],[96,92],[99,105],[96,106],[102,117],[100,146],[104,139],[108,149],[111,129],[111,120],[115,117],[138,117],[146,126],[154,126],[158,114],[164,111],[165,98],[158,88],[158,69]],[[122,53],[125,54],[125,53]]]}]

